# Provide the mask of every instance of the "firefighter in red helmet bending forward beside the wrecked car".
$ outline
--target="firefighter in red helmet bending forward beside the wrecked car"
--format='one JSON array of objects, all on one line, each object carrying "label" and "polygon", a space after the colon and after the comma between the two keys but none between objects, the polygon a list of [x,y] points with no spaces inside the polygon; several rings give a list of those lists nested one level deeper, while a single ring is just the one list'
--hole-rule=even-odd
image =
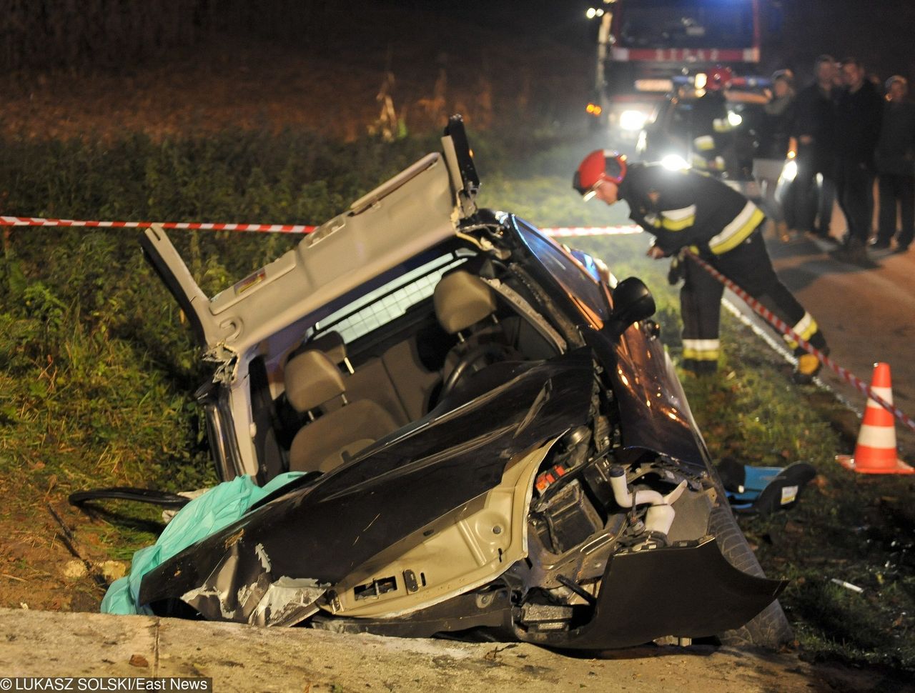
[{"label": "firefighter in red helmet bending forward beside the wrecked car", "polygon": [[[608,205],[625,200],[632,220],[654,236],[649,256],[673,257],[672,283],[680,276],[684,279],[680,307],[685,369],[696,374],[716,371],[724,293],[724,286],[686,249],[756,297],[814,348],[829,353],[816,321],[772,269],[760,231],[765,216],[733,188],[689,169],[630,164],[625,156],[601,149],[578,165],[573,186],[586,200],[597,197]],[[820,369],[819,359],[790,337],[785,340],[798,357],[795,382],[811,382]]]}]

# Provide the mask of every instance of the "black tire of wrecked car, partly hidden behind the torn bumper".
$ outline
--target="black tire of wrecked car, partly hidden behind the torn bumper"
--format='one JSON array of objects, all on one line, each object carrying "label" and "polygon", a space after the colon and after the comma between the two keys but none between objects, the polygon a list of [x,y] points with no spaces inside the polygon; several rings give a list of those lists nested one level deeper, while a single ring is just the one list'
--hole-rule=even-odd
[{"label": "black tire of wrecked car, partly hidden behind the torn bumper", "polygon": [[[712,508],[708,517],[708,531],[715,535],[718,549],[737,570],[760,578],[766,577],[753,549],[749,548],[747,538],[737,527],[737,520],[729,507]],[[717,637],[722,645],[757,645],[777,650],[794,640],[794,632],[781,609],[781,604],[775,600],[747,624],[718,634]]]}]

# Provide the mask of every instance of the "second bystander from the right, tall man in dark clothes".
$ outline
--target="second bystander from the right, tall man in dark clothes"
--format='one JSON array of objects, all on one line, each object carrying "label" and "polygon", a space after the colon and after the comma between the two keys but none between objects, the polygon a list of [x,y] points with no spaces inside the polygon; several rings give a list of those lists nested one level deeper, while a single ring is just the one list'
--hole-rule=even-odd
[{"label": "second bystander from the right, tall man in dark clothes", "polygon": [[883,100],[856,58],[842,61],[842,81],[845,90],[839,95],[835,111],[835,190],[848,234],[836,257],[874,266],[867,259],[866,249],[874,208],[874,150],[883,121]]}]

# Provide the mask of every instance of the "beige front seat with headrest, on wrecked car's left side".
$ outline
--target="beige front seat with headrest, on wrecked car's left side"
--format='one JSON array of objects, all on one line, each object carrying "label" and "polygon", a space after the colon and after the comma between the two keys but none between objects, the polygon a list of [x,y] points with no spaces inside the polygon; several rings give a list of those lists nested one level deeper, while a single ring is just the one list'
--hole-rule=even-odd
[{"label": "beige front seat with headrest, on wrecked car's left side", "polygon": [[323,351],[310,349],[289,359],[285,383],[286,399],[300,413],[336,398],[344,403],[299,429],[289,449],[290,471],[329,472],[397,429],[393,417],[376,402],[347,402],[343,376]]}]

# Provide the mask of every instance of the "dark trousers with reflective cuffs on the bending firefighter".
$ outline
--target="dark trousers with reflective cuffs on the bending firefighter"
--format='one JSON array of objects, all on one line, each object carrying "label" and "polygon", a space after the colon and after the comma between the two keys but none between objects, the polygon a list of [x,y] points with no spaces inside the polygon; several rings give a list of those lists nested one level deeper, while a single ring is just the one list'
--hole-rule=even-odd
[{"label": "dark trousers with reflective cuffs on the bending firefighter", "polygon": [[[826,339],[813,316],[803,309],[772,268],[759,228],[734,250],[721,255],[706,255],[704,259],[790,325],[811,346],[821,351],[825,348]],[[689,255],[683,265],[680,309],[684,323],[684,368],[697,373],[714,372],[720,351],[718,326],[725,287]],[[790,337],[785,336],[784,339],[795,355],[806,353]]]}]

